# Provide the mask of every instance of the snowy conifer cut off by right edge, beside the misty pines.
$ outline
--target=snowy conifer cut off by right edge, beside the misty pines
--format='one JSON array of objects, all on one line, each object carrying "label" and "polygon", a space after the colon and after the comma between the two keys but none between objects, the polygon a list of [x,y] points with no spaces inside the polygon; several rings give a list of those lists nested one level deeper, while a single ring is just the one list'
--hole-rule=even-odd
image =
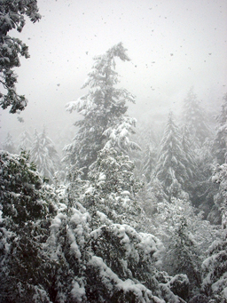
[{"label": "snowy conifer cut off by right edge, beside the misty pines", "polygon": [[223,164],[227,162],[227,93],[223,95],[222,110],[220,115],[216,117],[216,121],[218,125],[213,151],[216,163]]}]

